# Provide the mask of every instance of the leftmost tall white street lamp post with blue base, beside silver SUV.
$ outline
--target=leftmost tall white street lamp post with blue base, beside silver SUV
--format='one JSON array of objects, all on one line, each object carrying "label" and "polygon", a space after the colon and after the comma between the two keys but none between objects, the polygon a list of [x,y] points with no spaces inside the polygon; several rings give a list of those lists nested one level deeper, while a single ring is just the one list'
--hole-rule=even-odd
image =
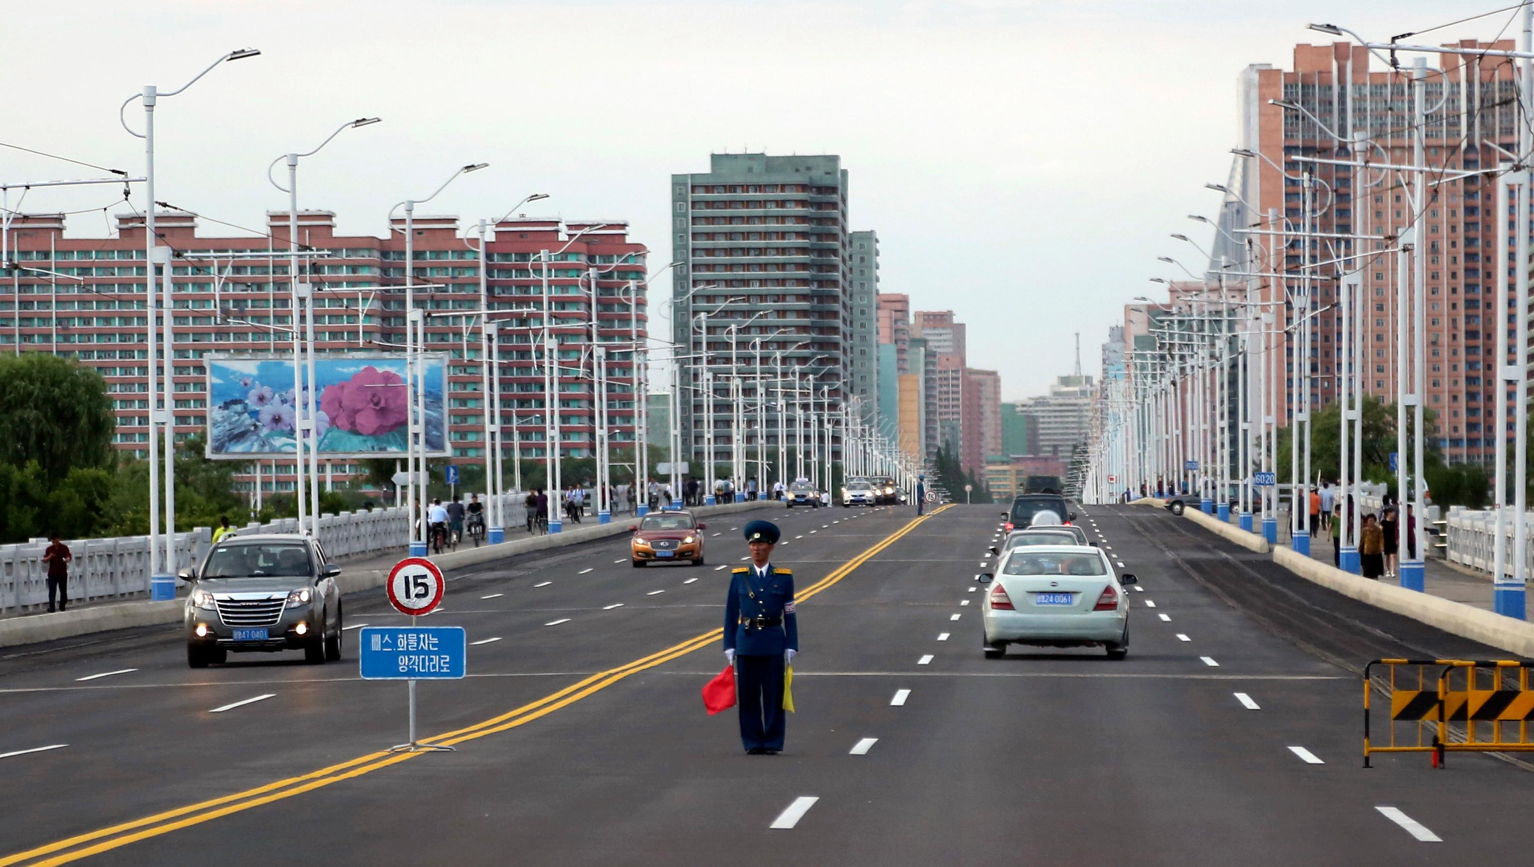
[{"label": "leftmost tall white street lamp post with blue base, beside silver SUV", "polygon": [[[181,87],[170,90],[169,93],[161,93],[153,84],[146,84],[141,93],[135,93],[127,100],[123,100],[123,106],[118,109],[118,121],[123,129],[135,138],[144,139],[144,198],[147,205],[144,207],[144,308],[146,308],[146,335],[147,335],[147,380],[149,380],[149,596],[155,600],[175,599],[175,571],[176,571],[176,440],[175,440],[175,398],[172,375],[175,372],[175,351],[173,351],[173,334],[172,325],[175,323],[173,303],[172,303],[172,283],[170,283],[170,247],[161,247],[158,244],[158,234],[155,233],[155,104],[164,97],[175,97],[187,87],[196,84],[199,78],[213,70],[215,66],[224,63],[225,60],[244,60],[247,57],[256,57],[261,51],[253,47],[236,49],[224,57],[219,57],[207,66],[202,72],[198,72],[192,81],[187,81]],[[133,132],[127,126],[127,118],[123,112],[127,104],[133,100],[140,100],[144,104],[144,132]],[[164,270],[164,322],[156,322],[161,314],[155,311],[155,265]],[[18,320],[20,322],[20,320]],[[155,380],[155,329],[161,328],[164,334],[164,409],[160,409],[158,401],[161,400],[156,389]],[[20,345],[18,345],[20,349]],[[155,426],[164,424],[166,437],[166,536],[164,536],[164,559],[160,556],[160,453],[155,443]]]}]

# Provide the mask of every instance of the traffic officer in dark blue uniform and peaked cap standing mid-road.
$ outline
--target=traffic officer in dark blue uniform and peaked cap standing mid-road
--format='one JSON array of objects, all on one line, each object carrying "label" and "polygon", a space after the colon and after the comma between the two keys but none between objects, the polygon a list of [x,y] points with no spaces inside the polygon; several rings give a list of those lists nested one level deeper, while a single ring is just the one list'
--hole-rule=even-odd
[{"label": "traffic officer in dark blue uniform and peaked cap standing mid-road", "polygon": [[799,653],[793,570],[772,565],[781,535],[772,521],[746,525],[752,565],[730,571],[730,594],[724,600],[724,657],[735,666],[741,744],[747,755],[782,751],[784,665]]}]

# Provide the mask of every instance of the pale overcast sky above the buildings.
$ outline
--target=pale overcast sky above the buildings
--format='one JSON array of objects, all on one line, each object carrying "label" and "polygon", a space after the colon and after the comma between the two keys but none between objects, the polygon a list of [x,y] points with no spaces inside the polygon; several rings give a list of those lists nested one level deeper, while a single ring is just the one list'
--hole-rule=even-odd
[{"label": "pale overcast sky above the buildings", "polygon": [[[261,227],[287,207],[264,178],[275,156],[380,115],[304,162],[299,207],[382,234],[394,202],[486,161],[425,210],[468,224],[551,193],[532,213],[627,219],[657,267],[670,251],[670,173],[706,172],[710,152],[838,153],[853,228],[879,231],[882,291],[953,308],[969,325],[969,365],[1000,371],[1016,400],[1071,372],[1075,332],[1097,372],[1121,305],[1155,288],[1149,277],[1180,276],[1157,256],[1198,270],[1169,234],[1209,247],[1212,230],[1186,214],[1218,205],[1203,185],[1229,172],[1246,64],[1287,67],[1295,43],[1325,41],[1304,29],[1312,20],[1388,38],[1505,5],[14,0],[0,141],[141,172],[141,142],[117,121],[123,100],[253,46],[262,57],[161,103],[161,201]],[[1422,40],[1490,38],[1506,20]],[[89,173],[0,149],[8,182]],[[25,207],[112,198],[38,190]],[[106,233],[98,216],[69,225]]]}]

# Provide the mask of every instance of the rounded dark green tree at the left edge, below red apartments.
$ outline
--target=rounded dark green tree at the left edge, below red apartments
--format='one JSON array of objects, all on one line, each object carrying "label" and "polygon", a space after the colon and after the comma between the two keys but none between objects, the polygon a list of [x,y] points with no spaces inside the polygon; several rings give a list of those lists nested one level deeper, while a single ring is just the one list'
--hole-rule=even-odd
[{"label": "rounded dark green tree at the left edge, below red apartments", "polygon": [[94,368],[43,352],[0,357],[0,463],[35,461],[49,483],[75,467],[110,469],[115,427]]}]

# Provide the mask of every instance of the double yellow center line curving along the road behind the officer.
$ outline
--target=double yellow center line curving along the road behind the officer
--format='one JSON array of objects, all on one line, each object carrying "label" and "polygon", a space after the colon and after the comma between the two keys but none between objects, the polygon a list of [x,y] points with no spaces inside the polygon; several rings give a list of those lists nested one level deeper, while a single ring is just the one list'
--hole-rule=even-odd
[{"label": "double yellow center line curving along the road behind the officer", "polygon": [[[916,528],[917,524],[927,521],[933,515],[943,512],[951,504],[940,505],[931,513],[916,518],[905,527],[900,527],[894,533],[884,538],[879,544],[862,551],[853,559],[839,565],[834,571],[815,582],[813,585],[801,590],[798,593],[798,600],[810,599],[811,596],[821,593],[822,590],[831,587],[841,579],[851,574],[859,565],[867,562],[870,558],[876,556],[879,551],[888,548],[897,539]],[[612,686],[614,683],[638,674],[640,671],[655,668],[657,665],[667,663],[673,659],[686,656],[695,649],[704,648],[723,636],[724,630],[710,630],[701,636],[693,636],[681,643],[672,645],[663,651],[653,653],[643,659],[637,659],[627,665],[618,668],[609,668],[592,674],[591,677],[580,680],[560,689],[558,692],[545,695],[537,702],[523,705],[514,711],[508,711],[497,717],[491,717],[480,723],[468,728],[456,729],[451,732],[443,732],[431,738],[422,738],[420,743],[434,743],[443,746],[456,746],[465,741],[482,738],[495,732],[503,732],[531,723],[532,720],[542,718],[560,708],[574,705],[581,699]],[[367,755],[359,755],[350,761],[342,761],[341,764],[331,764],[330,767],[321,767],[319,770],[311,770],[302,777],[288,777],[287,780],[278,780],[276,783],[267,783],[265,786],[258,786],[255,789],[245,789],[244,792],[235,792],[233,795],[224,795],[221,798],[212,798],[209,801],[199,801],[196,804],[187,804],[184,807],[176,807],[173,810],[164,810],[152,816],[144,816],[129,823],[121,823],[87,833],[75,835],[66,839],[28,849],[26,852],[17,852],[0,858],[0,867],[9,867],[12,864],[26,864],[28,867],[52,867],[55,864],[67,864],[71,861],[78,861],[81,858],[89,858],[92,855],[100,855],[112,849],[137,842],[140,839],[147,839],[150,836],[160,836],[163,833],[170,833],[184,827],[201,824],[219,816],[227,816],[230,813],[238,813],[249,810],[252,807],[259,807],[262,804],[270,804],[272,801],[281,801],[282,798],[291,798],[295,795],[302,795],[304,792],[313,792],[314,789],[322,789],[331,783],[339,783],[342,780],[351,780],[354,777],[362,777],[364,774],[371,774],[382,767],[391,764],[399,764],[400,761],[410,761],[411,758],[422,755],[419,752],[370,752]],[[51,856],[51,858],[49,858]],[[37,861],[41,859],[41,861]]]}]

